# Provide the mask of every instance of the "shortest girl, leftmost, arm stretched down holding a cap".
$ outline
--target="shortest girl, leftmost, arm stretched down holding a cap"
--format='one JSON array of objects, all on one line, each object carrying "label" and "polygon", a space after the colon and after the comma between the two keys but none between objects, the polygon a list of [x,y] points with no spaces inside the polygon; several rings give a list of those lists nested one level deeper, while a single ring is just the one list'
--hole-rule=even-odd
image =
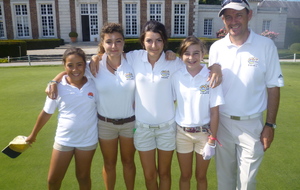
[{"label": "shortest girl, leftmost, arm stretched down holding a cap", "polygon": [[32,144],[56,108],[58,125],[48,173],[48,188],[59,189],[75,157],[80,189],[91,189],[90,169],[97,148],[97,92],[93,81],[84,76],[86,59],[80,48],[67,49],[63,55],[66,74],[58,86],[56,100],[47,97],[44,109],[27,138]]}]

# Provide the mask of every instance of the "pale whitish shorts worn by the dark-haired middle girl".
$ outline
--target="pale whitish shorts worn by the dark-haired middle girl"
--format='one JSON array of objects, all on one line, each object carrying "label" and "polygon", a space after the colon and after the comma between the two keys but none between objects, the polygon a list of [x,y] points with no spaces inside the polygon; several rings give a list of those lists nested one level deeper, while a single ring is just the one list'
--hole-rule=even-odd
[{"label": "pale whitish shorts worn by the dark-haired middle girl", "polygon": [[159,150],[172,151],[176,148],[176,123],[162,128],[147,128],[135,125],[134,146],[138,151]]}]

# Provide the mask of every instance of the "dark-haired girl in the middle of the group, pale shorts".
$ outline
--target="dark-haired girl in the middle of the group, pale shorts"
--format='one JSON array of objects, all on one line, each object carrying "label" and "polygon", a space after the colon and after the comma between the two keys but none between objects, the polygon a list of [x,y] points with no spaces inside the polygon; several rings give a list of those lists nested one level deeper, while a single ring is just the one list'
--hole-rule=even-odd
[{"label": "dark-haired girl in the middle of the group, pale shorts", "polygon": [[148,21],[140,41],[145,50],[126,54],[136,74],[134,145],[139,151],[147,189],[168,190],[176,135],[171,76],[183,64],[178,58],[166,61],[163,50],[167,33],[163,24]]}]

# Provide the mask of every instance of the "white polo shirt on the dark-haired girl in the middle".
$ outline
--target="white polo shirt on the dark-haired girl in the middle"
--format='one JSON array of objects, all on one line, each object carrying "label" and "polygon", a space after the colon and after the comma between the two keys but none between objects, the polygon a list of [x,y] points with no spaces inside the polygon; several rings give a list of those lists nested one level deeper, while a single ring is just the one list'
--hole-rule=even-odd
[{"label": "white polo shirt on the dark-haired girl in the middle", "polygon": [[146,124],[160,124],[173,119],[175,110],[171,76],[183,66],[180,59],[166,61],[162,53],[152,69],[145,50],[131,51],[126,58],[136,75],[136,119]]}]

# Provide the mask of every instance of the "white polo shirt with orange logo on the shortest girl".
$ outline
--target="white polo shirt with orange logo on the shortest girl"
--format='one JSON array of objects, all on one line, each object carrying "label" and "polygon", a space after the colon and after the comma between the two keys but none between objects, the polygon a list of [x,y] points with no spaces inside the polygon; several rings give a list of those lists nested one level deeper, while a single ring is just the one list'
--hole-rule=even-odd
[{"label": "white polo shirt with orange logo on the shortest girl", "polygon": [[55,141],[64,146],[86,147],[98,142],[97,92],[93,81],[88,80],[81,89],[71,86],[66,75],[58,84],[58,97],[47,97],[44,111],[53,114],[58,108]]}]

